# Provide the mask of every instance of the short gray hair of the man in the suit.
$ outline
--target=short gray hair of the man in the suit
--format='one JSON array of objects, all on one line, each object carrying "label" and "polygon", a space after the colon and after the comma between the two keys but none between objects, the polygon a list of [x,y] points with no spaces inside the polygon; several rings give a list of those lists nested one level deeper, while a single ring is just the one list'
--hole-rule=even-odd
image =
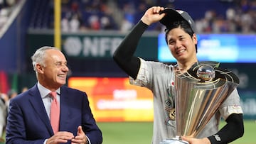
[{"label": "short gray hair of the man in the suit", "polygon": [[43,46],[36,50],[36,52],[31,56],[33,70],[36,72],[36,64],[43,65],[46,67],[45,58],[46,58],[46,50],[58,50],[58,48],[50,47],[50,46]]}]

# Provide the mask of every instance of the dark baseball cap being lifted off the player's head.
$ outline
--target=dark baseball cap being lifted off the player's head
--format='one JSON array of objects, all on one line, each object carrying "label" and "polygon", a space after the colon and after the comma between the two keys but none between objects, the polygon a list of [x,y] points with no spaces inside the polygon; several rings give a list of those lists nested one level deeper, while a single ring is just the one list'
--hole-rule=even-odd
[{"label": "dark baseball cap being lifted off the player's head", "polygon": [[191,26],[193,32],[196,33],[196,24],[186,11],[166,8],[161,11],[160,14],[161,13],[166,13],[166,16],[160,20],[160,23],[166,26],[166,28],[168,28],[170,23],[173,23],[174,21],[185,20]]}]

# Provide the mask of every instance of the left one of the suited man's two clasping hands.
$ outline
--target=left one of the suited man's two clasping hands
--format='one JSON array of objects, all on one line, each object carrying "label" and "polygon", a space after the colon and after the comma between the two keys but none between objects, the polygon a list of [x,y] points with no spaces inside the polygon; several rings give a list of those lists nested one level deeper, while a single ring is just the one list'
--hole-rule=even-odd
[{"label": "left one of the suited man's two clasping hands", "polygon": [[58,143],[67,143],[68,140],[74,138],[73,133],[67,131],[59,131],[50,137],[46,144],[58,144]]}]

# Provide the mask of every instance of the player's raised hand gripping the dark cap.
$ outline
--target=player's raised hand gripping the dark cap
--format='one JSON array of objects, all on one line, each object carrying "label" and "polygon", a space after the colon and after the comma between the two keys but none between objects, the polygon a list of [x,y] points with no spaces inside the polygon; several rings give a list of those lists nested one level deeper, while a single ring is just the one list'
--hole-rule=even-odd
[{"label": "player's raised hand gripping the dark cap", "polygon": [[164,18],[165,13],[160,13],[160,11],[163,11],[164,7],[161,6],[153,6],[146,10],[144,13],[144,16],[142,16],[142,22],[145,23],[146,25],[150,26],[151,23],[155,23],[157,21],[160,21],[161,18]]}]

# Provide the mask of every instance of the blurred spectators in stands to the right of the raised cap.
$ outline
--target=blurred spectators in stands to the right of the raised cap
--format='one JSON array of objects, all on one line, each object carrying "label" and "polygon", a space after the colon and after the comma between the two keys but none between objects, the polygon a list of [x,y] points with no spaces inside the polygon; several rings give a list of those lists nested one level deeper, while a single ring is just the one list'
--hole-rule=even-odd
[{"label": "blurred spectators in stands to the right of the raised cap", "polygon": [[240,0],[228,8],[225,15],[206,11],[203,18],[196,20],[198,33],[255,33],[256,1]]}]

